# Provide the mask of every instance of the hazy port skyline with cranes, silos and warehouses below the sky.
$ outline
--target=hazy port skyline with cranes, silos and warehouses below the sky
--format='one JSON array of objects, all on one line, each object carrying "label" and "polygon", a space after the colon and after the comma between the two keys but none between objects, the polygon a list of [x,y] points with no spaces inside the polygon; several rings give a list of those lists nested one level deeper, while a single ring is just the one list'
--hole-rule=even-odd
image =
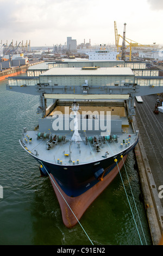
[{"label": "hazy port skyline with cranes, silos and warehouses below the sky", "polygon": [[[84,58],[87,60],[126,60],[146,62],[147,69],[158,69],[159,76],[163,75],[162,46],[153,42],[142,45],[126,38],[126,23],[124,31],[118,34],[116,21],[114,22],[115,44],[91,45],[91,39],[77,44],[76,39],[67,37],[64,45],[32,47],[30,40],[8,43],[0,42],[0,80],[8,76],[21,74],[30,65],[38,62],[64,61],[64,59]],[[122,41],[122,42],[121,42]]]}]

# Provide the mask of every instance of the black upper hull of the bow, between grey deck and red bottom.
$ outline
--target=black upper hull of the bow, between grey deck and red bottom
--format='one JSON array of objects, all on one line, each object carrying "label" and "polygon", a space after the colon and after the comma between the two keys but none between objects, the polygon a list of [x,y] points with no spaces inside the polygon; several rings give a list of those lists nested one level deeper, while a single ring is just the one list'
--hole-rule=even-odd
[{"label": "black upper hull of the bow, between grey deck and red bottom", "polygon": [[90,162],[86,164],[78,164],[72,166],[64,166],[62,164],[53,164],[32,155],[37,162],[42,165],[41,172],[45,175],[52,174],[58,185],[61,187],[62,191],[65,192],[67,196],[78,197],[91,187],[95,186],[101,176],[103,178],[108,175],[112,169],[116,166],[115,159],[117,163],[120,162],[121,156],[126,156],[133,150],[138,142],[137,141],[115,156],[102,159],[101,161]]}]

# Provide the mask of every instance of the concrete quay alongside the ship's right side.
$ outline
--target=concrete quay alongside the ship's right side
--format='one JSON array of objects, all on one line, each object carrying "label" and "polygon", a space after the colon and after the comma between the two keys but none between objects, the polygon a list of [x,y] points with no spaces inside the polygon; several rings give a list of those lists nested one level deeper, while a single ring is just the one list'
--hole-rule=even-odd
[{"label": "concrete quay alongside the ship's right side", "polygon": [[159,194],[163,185],[163,113],[153,112],[157,95],[142,99],[143,103],[135,102],[133,124],[140,131],[135,156],[153,245],[159,245],[163,234],[163,199]]}]

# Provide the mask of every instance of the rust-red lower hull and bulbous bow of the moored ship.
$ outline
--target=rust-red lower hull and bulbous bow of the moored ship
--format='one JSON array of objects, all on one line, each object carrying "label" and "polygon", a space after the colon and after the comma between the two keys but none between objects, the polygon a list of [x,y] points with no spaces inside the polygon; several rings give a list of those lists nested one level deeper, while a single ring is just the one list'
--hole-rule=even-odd
[{"label": "rust-red lower hull and bulbous bow of the moored ship", "polygon": [[[126,158],[127,156],[123,157],[124,162],[126,161]],[[119,169],[123,167],[123,161],[121,160],[118,163]],[[118,172],[119,171],[116,166],[114,169],[111,170],[111,172],[108,175],[106,175],[103,178],[103,181],[99,181],[95,186],[93,186],[88,191],[86,191],[85,193],[83,193],[78,197],[68,197],[64,193],[64,191],[62,191],[61,188],[58,186],[57,181],[55,181],[54,179],[54,176],[50,174],[51,182],[60,204],[62,220],[67,228],[71,228],[78,223],[78,220],[80,220],[80,218],[82,217],[86,209],[99,196],[99,194],[101,194],[105,190],[105,188],[110,184],[110,182],[114,180]],[[55,184],[53,181],[55,182]],[[58,187],[60,192],[58,191],[55,185]],[[70,208],[68,207],[68,205],[66,204],[65,200],[63,199],[60,193],[65,198],[66,202],[68,203],[68,205],[70,206],[74,215],[77,218],[73,215],[72,211],[70,210]]]}]

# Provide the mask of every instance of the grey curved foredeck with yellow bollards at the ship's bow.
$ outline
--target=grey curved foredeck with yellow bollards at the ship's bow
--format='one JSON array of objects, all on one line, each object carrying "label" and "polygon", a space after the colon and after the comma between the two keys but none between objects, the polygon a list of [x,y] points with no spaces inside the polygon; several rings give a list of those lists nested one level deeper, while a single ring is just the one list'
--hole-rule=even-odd
[{"label": "grey curved foredeck with yellow bollards at the ship's bow", "polygon": [[[96,133],[94,133],[94,136],[96,136]],[[58,142],[52,149],[47,150],[48,139],[37,139],[37,131],[27,131],[23,133],[21,145],[29,154],[40,160],[71,166],[72,164],[86,164],[100,161],[105,157],[116,156],[121,152],[123,153],[124,149],[130,147],[136,140],[136,134],[130,128],[128,132],[117,134],[117,142],[105,141],[101,143],[100,150],[97,152],[93,143],[90,141],[87,144],[85,143],[84,135],[80,134],[80,137],[82,141],[76,143],[71,141],[72,133],[67,134],[66,142]],[[30,138],[32,138],[32,141],[29,142]],[[106,152],[108,154],[105,155]]]}]

